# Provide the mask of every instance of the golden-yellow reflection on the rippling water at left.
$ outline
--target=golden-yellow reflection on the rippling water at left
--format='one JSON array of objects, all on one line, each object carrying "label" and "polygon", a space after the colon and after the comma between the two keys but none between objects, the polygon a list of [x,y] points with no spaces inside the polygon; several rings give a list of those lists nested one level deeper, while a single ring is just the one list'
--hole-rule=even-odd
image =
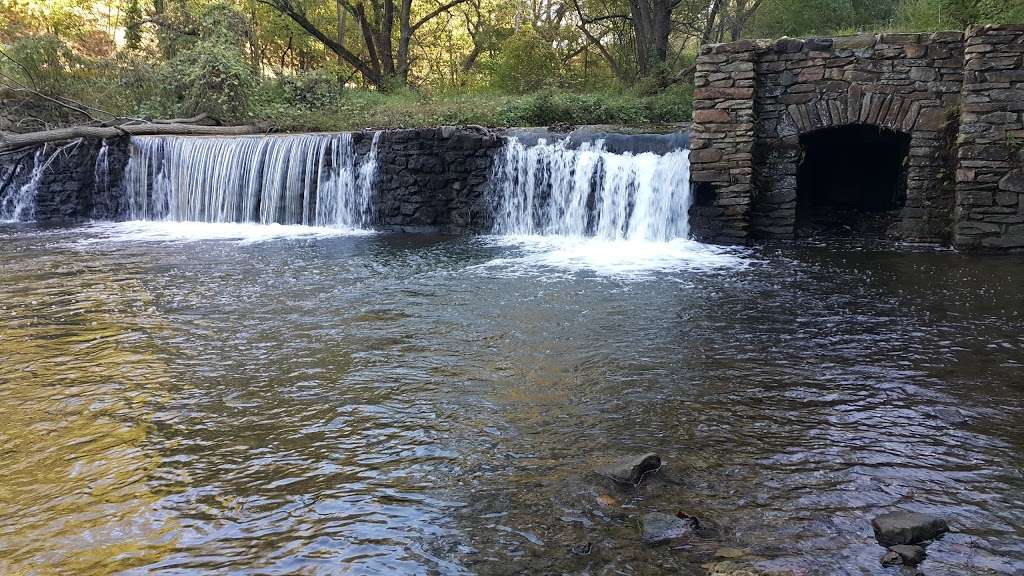
[{"label": "golden-yellow reflection on the rippling water at left", "polygon": [[117,268],[23,250],[0,259],[5,574],[104,573],[173,546],[174,521],[154,513],[147,484],[169,382],[150,336],[160,322]]}]

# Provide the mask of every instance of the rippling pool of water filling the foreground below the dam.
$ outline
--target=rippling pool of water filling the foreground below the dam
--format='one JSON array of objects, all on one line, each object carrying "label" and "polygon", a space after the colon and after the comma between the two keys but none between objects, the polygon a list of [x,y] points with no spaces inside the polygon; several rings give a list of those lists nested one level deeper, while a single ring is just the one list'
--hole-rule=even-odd
[{"label": "rippling pool of water filling the foreground below the dam", "polygon": [[329,232],[0,228],[0,572],[1024,574],[1022,256]]}]

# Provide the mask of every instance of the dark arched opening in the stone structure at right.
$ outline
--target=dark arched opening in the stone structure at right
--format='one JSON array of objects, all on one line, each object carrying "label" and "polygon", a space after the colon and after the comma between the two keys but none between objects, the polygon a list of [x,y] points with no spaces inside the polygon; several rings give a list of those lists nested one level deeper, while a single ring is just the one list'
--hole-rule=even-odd
[{"label": "dark arched opening in the stone structure at right", "polygon": [[850,125],[804,134],[800,146],[798,236],[887,236],[906,201],[910,136]]}]

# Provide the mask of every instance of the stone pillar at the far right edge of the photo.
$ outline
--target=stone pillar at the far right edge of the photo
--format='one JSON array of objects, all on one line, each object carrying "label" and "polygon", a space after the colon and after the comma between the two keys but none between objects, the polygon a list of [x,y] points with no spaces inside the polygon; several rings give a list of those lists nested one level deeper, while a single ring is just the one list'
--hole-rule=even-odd
[{"label": "stone pillar at the far right edge of the photo", "polygon": [[956,165],[956,245],[1024,248],[1024,26],[969,33]]}]

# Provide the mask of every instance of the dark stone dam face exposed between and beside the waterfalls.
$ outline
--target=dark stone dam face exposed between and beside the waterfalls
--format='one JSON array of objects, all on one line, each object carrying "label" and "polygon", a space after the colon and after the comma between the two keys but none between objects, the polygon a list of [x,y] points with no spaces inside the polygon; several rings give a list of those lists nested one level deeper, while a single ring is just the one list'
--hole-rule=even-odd
[{"label": "dark stone dam face exposed between and beside the waterfalls", "polygon": [[[374,134],[353,134],[357,155],[366,156]],[[489,229],[490,206],[484,193],[492,160],[503,141],[500,134],[482,128],[382,132],[374,187],[375,224],[408,232]],[[27,181],[37,150],[0,157],[0,195],[4,182],[9,188]],[[48,163],[38,184],[37,221],[127,217],[123,182],[127,138],[48,145],[44,155]]]}]

